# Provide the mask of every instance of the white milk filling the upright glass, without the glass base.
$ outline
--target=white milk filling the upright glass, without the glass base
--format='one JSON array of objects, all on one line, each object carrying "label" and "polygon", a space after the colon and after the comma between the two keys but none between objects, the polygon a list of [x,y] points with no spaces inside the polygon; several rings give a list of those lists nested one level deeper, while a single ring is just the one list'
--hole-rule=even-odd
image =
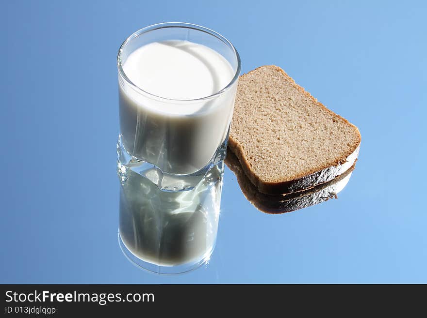
[{"label": "white milk filling the upright glass, without the glass base", "polygon": [[119,76],[120,131],[126,151],[173,174],[205,167],[227,136],[237,81],[215,97],[197,99],[230,83],[230,63],[207,46],[178,40],[144,45],[123,63],[133,84],[171,99],[136,91]]}]

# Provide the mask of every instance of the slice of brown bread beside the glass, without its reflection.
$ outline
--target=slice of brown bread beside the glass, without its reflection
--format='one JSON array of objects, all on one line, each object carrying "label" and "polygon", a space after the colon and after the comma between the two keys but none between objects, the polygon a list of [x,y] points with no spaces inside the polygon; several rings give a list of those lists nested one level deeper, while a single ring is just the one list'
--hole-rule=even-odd
[{"label": "slice of brown bread beside the glass, without its reflection", "polygon": [[302,191],[353,166],[361,135],[281,68],[240,76],[229,148],[249,180],[266,194]]}]

